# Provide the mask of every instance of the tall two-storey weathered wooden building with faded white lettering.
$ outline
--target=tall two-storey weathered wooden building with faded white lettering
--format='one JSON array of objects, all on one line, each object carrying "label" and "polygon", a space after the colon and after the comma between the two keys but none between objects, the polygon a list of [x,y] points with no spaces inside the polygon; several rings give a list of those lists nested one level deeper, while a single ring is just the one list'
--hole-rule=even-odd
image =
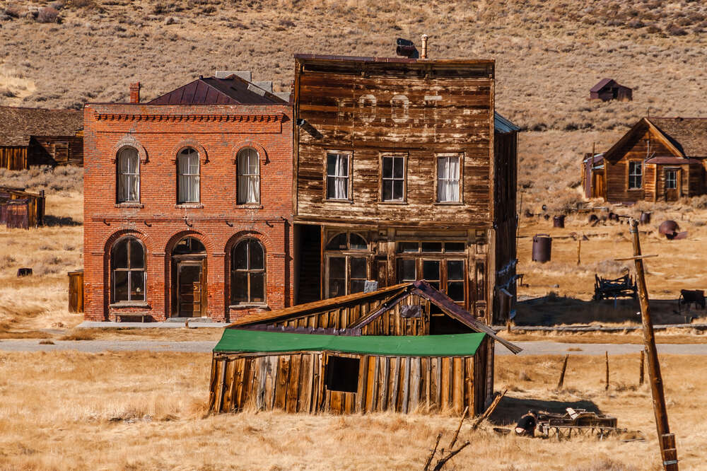
[{"label": "tall two-storey weathered wooden building with faded white lettering", "polygon": [[494,62],[295,58],[296,301],[426,279],[503,322],[518,128],[494,112]]}]

